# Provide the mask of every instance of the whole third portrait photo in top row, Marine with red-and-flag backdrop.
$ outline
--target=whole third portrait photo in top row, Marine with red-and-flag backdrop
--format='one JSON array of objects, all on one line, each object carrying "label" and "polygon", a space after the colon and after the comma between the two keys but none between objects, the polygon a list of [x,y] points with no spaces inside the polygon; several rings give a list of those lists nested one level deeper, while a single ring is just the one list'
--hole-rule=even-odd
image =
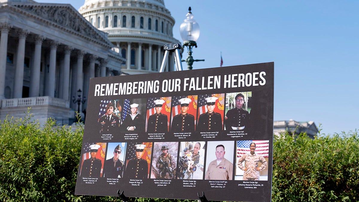
[{"label": "whole third portrait photo in top row, Marine with red-and-flag backdrop", "polygon": [[[149,99],[147,103],[147,124],[148,133],[165,133],[168,132],[169,117],[171,107],[166,111],[166,101],[164,99]],[[163,107],[164,106],[164,107]]]}]

